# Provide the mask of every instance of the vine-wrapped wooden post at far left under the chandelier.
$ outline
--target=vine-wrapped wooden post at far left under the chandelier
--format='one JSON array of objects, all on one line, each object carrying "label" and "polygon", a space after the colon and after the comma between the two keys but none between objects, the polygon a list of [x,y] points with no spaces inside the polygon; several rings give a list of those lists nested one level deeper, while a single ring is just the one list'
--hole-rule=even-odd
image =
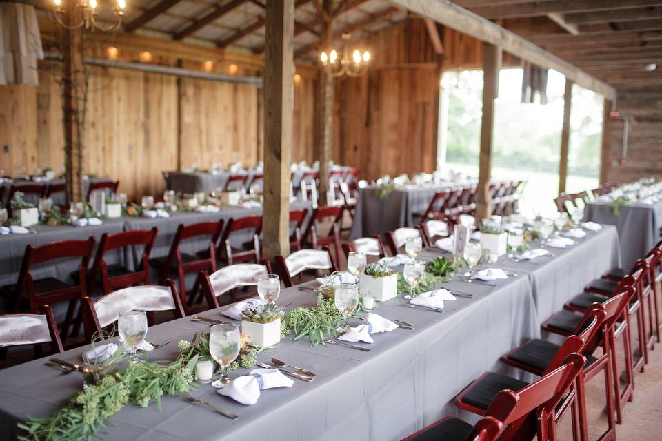
[{"label": "vine-wrapped wooden post at far left under the chandelier", "polygon": [[[68,21],[74,23],[77,12],[75,2],[70,1],[66,8]],[[85,198],[83,193],[83,134],[88,83],[83,65],[82,31],[65,30],[63,35],[64,166],[69,201],[79,202]]]}]

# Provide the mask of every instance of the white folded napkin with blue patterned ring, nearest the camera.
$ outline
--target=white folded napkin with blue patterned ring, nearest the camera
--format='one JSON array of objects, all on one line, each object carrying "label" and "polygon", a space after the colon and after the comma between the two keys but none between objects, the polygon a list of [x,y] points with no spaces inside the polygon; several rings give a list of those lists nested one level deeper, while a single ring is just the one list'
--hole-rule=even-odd
[{"label": "white folded napkin with blue patterned ring, nearest the camera", "polygon": [[292,387],[292,384],[294,381],[284,376],[278,369],[253,369],[250,375],[235,378],[217,392],[241,404],[252,406],[260,398],[262,389]]}]

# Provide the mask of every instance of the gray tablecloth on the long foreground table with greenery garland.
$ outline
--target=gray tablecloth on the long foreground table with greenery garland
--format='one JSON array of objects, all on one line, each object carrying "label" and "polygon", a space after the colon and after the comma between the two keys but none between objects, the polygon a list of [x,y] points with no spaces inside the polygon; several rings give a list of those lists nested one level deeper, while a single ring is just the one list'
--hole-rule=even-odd
[{"label": "gray tablecloth on the long foreground table with greenery garland", "polygon": [[[291,389],[262,391],[254,406],[219,396],[209,384],[192,393],[237,413],[237,420],[191,406],[181,398],[166,397],[161,412],[154,404],[146,409],[123,409],[100,436],[104,440],[257,440],[268,433],[270,439],[288,441],[399,440],[441,416],[457,413],[454,396],[483,371],[523,376],[499,363],[499,357],[539,336],[539,325],[547,318],[541,314],[562,305],[583,284],[610,268],[613,256],[619,254],[615,234],[613,227],[605,227],[568,250],[555,251],[554,258],[528,264],[510,262],[508,267],[519,276],[497,280],[495,286],[460,280],[445,283],[449,289],[474,294],[474,299],[446,302],[443,314],[404,307],[400,298],[383,302],[377,314],[412,322],[414,330],[373,335],[368,353],[341,346],[310,347],[305,341],[285,338],[276,349],[259,353],[259,360],[280,358],[314,371],[317,377],[310,383],[295,380]],[[563,272],[588,256],[597,258],[596,251],[610,257]],[[432,250],[424,253],[423,258],[439,255]],[[495,266],[505,265],[500,260]],[[278,302],[312,306],[314,294],[292,287],[283,289]],[[221,318],[221,309],[203,315]],[[177,341],[190,340],[194,332],[206,329],[207,325],[188,318],[151,327],[147,340],[172,343],[151,353],[150,358],[173,360]],[[83,349],[66,351],[60,358],[78,361]],[[0,371],[1,439],[16,436],[17,421],[47,416],[81,389],[82,378],[77,373],[63,375],[43,362],[34,360]],[[240,369],[233,375],[246,372]]]}]

